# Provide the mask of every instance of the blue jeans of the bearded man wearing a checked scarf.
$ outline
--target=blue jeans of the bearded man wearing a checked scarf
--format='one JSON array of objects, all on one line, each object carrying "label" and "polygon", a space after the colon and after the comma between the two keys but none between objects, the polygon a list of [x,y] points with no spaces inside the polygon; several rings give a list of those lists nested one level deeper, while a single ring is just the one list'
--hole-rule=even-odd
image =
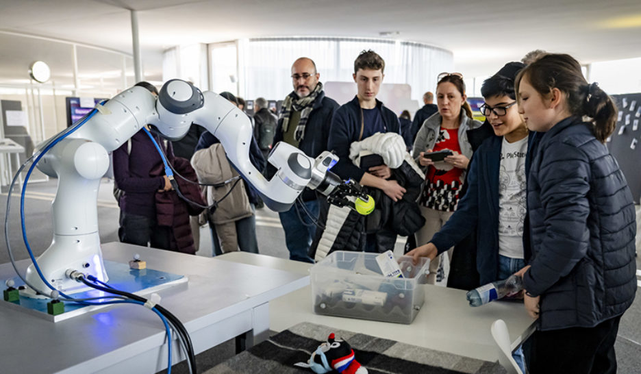
[{"label": "blue jeans of the bearded man wearing a checked scarf", "polygon": [[[318,200],[305,201],[305,209],[314,220],[318,220]],[[314,263],[310,257],[310,245],[316,233],[316,225],[305,213],[300,201],[296,201],[287,212],[278,214],[285,230],[285,244],[290,252],[290,260]]]}]

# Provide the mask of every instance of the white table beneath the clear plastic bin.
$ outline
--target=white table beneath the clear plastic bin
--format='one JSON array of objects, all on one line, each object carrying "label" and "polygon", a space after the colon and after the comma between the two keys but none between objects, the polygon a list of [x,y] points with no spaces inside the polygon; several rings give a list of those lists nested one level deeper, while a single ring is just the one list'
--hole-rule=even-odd
[{"label": "white table beneath the clear plastic bin", "polygon": [[[308,269],[311,267],[311,264],[303,262],[243,252],[227,253],[220,259],[268,266],[301,275],[309,275]],[[534,321],[527,315],[522,303],[495,301],[472,308],[465,294],[463,290],[426,285],[423,308],[412,324],[403,325],[314,314],[312,290],[306,286],[271,301],[269,323],[270,328],[277,332],[300,322],[318,323],[488,361],[499,359],[497,345],[490,333],[490,326],[495,320],[503,319],[507,324],[513,349],[534,331]]]}]

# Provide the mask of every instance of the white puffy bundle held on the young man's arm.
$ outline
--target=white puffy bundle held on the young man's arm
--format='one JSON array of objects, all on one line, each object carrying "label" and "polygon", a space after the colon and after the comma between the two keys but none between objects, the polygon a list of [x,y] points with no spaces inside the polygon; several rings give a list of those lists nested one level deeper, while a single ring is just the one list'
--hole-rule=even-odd
[{"label": "white puffy bundle held on the young man's arm", "polygon": [[349,158],[354,161],[356,166],[360,163],[359,155],[361,151],[370,151],[380,155],[384,164],[392,169],[397,169],[401,166],[403,160],[405,160],[405,154],[407,154],[403,137],[395,132],[383,134],[377,132],[360,142],[353,142],[349,147]]}]

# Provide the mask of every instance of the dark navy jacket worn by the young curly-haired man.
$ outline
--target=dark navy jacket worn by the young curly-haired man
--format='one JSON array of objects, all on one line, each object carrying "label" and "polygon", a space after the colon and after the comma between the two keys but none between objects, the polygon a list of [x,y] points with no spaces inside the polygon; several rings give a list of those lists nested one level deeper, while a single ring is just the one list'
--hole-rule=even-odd
[{"label": "dark navy jacket worn by the young curly-haired man", "polygon": [[[381,117],[387,127],[387,132],[401,134],[399,117],[386,108],[381,101],[376,101],[376,107],[381,111]],[[363,140],[367,137],[363,136],[363,139],[359,139],[361,123],[362,111],[358,103],[358,97],[354,97],[352,101],[341,105],[340,108],[336,110],[336,113],[334,113],[334,119],[331,121],[329,141],[327,142],[329,150],[340,158],[331,171],[342,179],[351,178],[356,182],[360,182],[366,171],[351,162],[349,159],[349,147],[352,142]]]}]

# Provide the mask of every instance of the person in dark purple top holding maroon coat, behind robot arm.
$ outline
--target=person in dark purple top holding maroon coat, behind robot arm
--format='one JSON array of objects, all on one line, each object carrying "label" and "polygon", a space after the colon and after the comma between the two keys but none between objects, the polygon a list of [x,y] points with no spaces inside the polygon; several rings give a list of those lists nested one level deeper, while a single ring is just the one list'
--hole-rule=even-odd
[{"label": "person in dark purple top holding maroon coat, behind robot arm", "polygon": [[[139,82],[136,86],[147,88],[158,96],[158,90],[147,82]],[[154,135],[154,138],[163,147],[160,137]],[[171,162],[174,157],[171,143],[164,151]],[[171,227],[158,225],[155,192],[168,191],[172,187],[166,175],[149,176],[149,172],[162,162],[153,142],[141,129],[114,151],[113,158],[116,185],[125,192],[118,201],[121,208],[118,237],[121,242],[169,249]]]}]

